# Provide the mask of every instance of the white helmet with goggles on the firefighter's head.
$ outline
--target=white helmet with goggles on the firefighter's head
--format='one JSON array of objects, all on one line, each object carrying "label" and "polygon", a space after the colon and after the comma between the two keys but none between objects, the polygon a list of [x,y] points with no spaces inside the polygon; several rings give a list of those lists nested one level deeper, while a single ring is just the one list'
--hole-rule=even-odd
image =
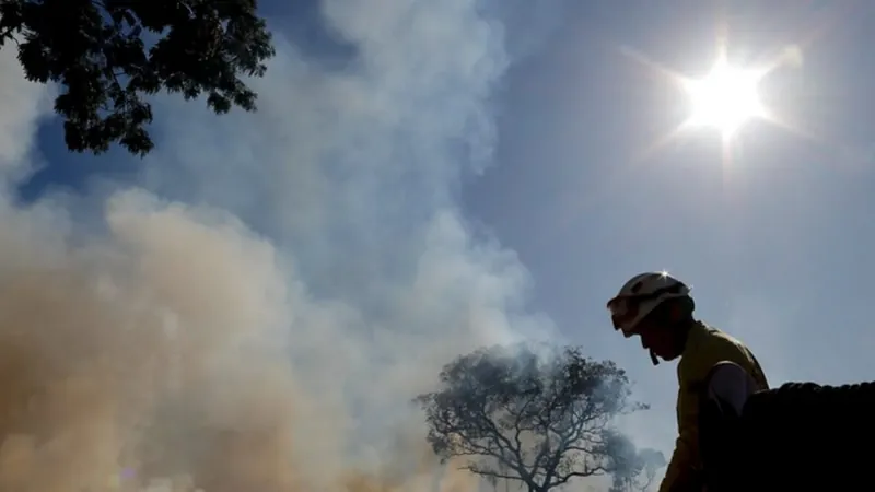
[{"label": "white helmet with goggles on the firefighter's head", "polygon": [[638,324],[669,298],[689,297],[690,288],[667,272],[641,273],[629,279],[607,308],[614,329],[627,338],[637,333]]}]

